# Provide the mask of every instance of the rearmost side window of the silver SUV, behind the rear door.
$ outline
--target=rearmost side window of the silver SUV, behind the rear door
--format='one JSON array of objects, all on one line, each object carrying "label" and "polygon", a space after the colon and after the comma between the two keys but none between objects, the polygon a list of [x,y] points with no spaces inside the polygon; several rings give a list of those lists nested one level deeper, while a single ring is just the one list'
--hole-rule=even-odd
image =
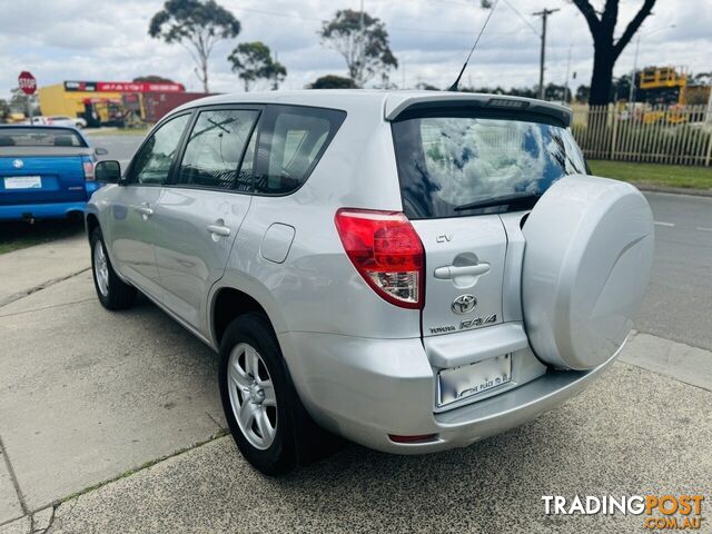
[{"label": "rearmost side window of the silver SUV, behind the rear door", "polygon": [[286,195],[298,189],[336,135],[346,112],[271,106],[260,135],[256,192]]}]

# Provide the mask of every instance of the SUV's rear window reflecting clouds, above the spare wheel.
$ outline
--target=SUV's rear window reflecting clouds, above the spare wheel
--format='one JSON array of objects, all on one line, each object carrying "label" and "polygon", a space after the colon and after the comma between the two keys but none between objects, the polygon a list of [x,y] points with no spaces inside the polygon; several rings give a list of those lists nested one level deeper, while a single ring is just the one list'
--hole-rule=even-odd
[{"label": "SUV's rear window reflecting clouds, above the spare wheel", "polygon": [[447,116],[393,123],[404,211],[414,219],[498,212],[507,205],[458,206],[543,194],[560,178],[585,174],[571,132],[512,118]]}]

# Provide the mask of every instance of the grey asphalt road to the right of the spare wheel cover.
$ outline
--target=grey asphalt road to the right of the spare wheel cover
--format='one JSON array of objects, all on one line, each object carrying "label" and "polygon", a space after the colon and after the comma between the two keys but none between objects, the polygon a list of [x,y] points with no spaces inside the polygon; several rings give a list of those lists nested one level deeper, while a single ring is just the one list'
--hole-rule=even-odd
[{"label": "grey asphalt road to the right of the spare wheel cover", "polygon": [[712,198],[649,192],[653,275],[636,328],[712,349]]}]

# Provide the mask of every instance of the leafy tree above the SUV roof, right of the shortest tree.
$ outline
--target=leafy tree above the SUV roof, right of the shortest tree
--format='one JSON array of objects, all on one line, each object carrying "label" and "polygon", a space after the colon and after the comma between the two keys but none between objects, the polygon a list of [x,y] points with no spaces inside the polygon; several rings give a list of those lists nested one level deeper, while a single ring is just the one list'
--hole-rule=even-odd
[{"label": "leafy tree above the SUV roof, right of the shortest tree", "polygon": [[323,22],[319,36],[324,46],[344,57],[348,76],[358,87],[377,73],[398,68],[386,26],[366,12],[339,10],[332,20]]}]

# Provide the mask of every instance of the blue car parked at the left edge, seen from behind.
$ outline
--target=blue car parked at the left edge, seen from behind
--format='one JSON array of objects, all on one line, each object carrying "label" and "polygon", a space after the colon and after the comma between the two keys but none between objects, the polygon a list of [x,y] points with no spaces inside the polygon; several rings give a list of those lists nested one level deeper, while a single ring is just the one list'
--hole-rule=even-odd
[{"label": "blue car parked at the left edge, seen from behind", "polygon": [[0,220],[83,215],[103,154],[75,128],[0,126]]}]

